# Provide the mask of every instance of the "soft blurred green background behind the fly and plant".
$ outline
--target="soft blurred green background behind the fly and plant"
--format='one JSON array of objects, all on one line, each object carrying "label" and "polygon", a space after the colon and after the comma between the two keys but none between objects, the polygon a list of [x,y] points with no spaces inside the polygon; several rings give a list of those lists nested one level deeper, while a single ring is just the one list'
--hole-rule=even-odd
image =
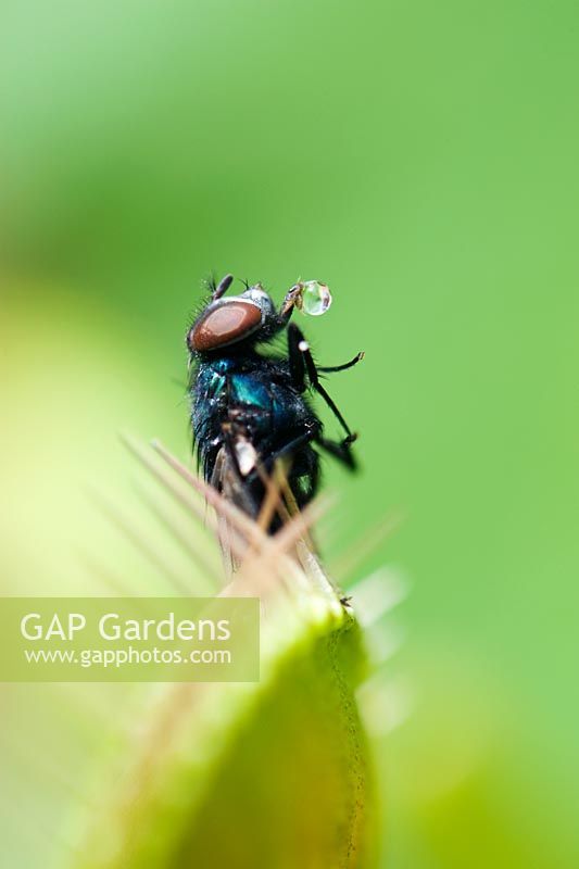
[{"label": "soft blurred green background behind the fly and plant", "polygon": [[130,503],[119,429],[187,453],[201,278],[326,280],[319,361],[366,351],[331,383],[364,468],[327,465],[326,550],[406,514],[358,568],[412,583],[412,703],[376,739],[392,869],[579,865],[578,26],[547,0],[1,5],[3,584],[88,593],[103,552],[146,574],[86,490]]}]

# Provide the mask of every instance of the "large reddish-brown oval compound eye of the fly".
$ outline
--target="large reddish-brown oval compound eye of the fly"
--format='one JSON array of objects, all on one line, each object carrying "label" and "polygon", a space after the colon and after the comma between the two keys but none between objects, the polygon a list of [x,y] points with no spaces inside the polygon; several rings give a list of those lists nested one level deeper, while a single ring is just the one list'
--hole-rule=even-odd
[{"label": "large reddish-brown oval compound eye of the fly", "polygon": [[198,353],[218,350],[248,338],[262,325],[262,312],[252,302],[231,300],[210,307],[187,336],[189,349]]}]

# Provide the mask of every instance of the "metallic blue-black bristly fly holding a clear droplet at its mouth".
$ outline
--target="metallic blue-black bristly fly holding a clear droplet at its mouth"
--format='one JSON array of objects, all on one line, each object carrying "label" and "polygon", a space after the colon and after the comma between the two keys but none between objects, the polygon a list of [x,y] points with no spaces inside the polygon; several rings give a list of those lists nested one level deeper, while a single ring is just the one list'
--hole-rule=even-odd
[{"label": "metallic blue-black bristly fly holding a clear droplet at its mouth", "polygon": [[[291,322],[295,307],[323,314],[331,302],[318,281],[295,284],[279,310],[260,284],[239,295],[226,295],[234,278],[226,275],[187,332],[191,425],[205,480],[253,519],[259,519],[267,481],[284,459],[286,501],[301,509],[319,486],[319,454],[325,451],[353,470],[351,431],[319,380],[320,373],[351,368],[358,353],[343,365],[316,365],[301,329]],[[287,355],[263,348],[282,332]],[[317,392],[343,429],[341,440],[324,434],[322,420],[307,393]],[[274,514],[267,530],[275,531]]]}]

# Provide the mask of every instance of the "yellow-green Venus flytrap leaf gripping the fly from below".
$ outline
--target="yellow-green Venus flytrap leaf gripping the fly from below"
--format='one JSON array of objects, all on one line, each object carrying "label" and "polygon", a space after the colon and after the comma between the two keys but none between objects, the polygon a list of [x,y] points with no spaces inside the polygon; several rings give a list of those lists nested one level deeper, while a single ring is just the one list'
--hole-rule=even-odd
[{"label": "yellow-green Venus flytrap leaf gripping the fly from below", "polygon": [[297,520],[273,538],[252,529],[251,557],[223,592],[261,600],[260,681],[160,688],[75,869],[374,865],[361,629]]}]

